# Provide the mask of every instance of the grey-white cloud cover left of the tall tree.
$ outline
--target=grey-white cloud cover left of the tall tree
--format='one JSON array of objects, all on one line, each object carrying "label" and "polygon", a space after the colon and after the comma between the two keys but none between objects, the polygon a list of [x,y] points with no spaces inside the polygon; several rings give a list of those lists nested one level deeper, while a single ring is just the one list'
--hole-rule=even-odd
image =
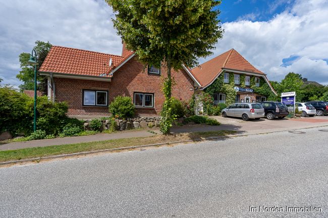
[{"label": "grey-white cloud cover left of the tall tree", "polygon": [[0,7],[0,77],[19,85],[18,56],[31,52],[36,40],[120,54],[121,39],[113,28],[112,9],[95,0],[11,0]]}]

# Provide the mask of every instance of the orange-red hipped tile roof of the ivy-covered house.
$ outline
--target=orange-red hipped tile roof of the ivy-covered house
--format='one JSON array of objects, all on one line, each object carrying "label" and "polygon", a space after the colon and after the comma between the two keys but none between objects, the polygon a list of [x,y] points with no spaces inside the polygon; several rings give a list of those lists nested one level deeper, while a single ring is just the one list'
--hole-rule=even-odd
[{"label": "orange-red hipped tile roof of the ivy-covered house", "polygon": [[210,85],[223,69],[234,69],[247,72],[255,72],[265,75],[256,69],[235,49],[231,49],[217,57],[214,57],[203,64],[193,68],[192,74],[200,82],[202,87]]}]

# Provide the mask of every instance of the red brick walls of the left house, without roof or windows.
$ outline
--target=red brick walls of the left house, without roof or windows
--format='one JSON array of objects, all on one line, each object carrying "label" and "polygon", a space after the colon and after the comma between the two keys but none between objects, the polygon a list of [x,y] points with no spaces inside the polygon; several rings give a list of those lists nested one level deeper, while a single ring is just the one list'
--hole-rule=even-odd
[{"label": "red brick walls of the left house, without roof or windows", "polygon": [[[161,68],[161,75],[167,76],[167,69]],[[183,69],[172,71],[176,85],[172,95],[179,100],[189,100],[193,94],[194,82]],[[153,93],[154,108],[137,108],[137,115],[159,115],[164,102],[161,93],[162,79],[158,75],[151,75],[147,67],[133,57],[114,73],[111,82],[89,81],[54,78],[56,85],[56,101],[66,101],[69,104],[70,116],[108,116],[108,107],[82,106],[82,89],[106,90],[109,103],[116,96],[129,96],[133,100],[134,92]]]}]

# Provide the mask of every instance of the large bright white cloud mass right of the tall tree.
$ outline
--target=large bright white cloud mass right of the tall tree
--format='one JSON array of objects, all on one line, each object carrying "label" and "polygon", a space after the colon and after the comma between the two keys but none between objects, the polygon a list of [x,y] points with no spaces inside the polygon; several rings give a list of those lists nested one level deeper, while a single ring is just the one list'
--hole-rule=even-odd
[{"label": "large bright white cloud mass right of the tall tree", "polygon": [[[214,55],[235,48],[270,80],[280,81],[289,71],[328,85],[328,1],[296,1],[290,10],[267,22],[241,20],[224,23],[224,38]],[[291,65],[283,59],[300,56]],[[202,61],[201,61],[202,62]]]}]

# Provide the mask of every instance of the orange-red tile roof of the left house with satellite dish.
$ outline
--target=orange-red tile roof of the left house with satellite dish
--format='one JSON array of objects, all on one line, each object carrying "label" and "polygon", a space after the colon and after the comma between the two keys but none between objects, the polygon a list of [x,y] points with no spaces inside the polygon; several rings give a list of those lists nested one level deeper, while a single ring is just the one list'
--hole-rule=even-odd
[{"label": "orange-red tile roof of the left house with satellite dish", "polygon": [[123,56],[114,54],[52,46],[39,71],[111,77],[109,72],[123,59]]}]

